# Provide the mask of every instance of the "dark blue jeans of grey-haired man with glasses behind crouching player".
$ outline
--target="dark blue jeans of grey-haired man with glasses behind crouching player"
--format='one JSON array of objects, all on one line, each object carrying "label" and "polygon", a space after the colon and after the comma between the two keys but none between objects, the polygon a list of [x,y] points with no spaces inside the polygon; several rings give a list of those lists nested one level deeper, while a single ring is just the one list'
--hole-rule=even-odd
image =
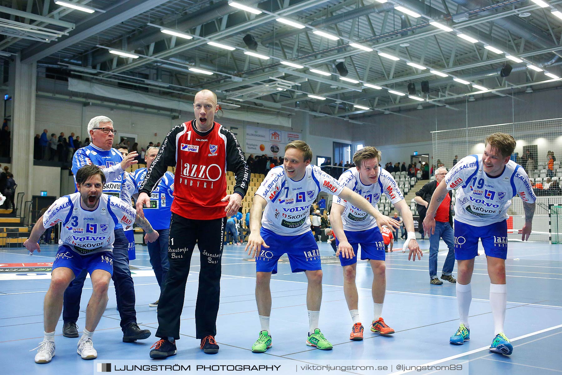
[{"label": "dark blue jeans of grey-haired man with glasses behind crouching player", "polygon": [[[137,323],[137,312],[135,311],[135,288],[131,271],[129,269],[129,241],[125,237],[123,228],[115,229],[115,242],[113,243],[113,283],[117,297],[117,309],[121,316],[121,330],[131,323]],[[64,309],[62,309],[62,320],[64,322],[76,322],[80,312],[80,297],[82,287],[86,279],[87,271],[82,272],[70,283],[65,290]]]}]

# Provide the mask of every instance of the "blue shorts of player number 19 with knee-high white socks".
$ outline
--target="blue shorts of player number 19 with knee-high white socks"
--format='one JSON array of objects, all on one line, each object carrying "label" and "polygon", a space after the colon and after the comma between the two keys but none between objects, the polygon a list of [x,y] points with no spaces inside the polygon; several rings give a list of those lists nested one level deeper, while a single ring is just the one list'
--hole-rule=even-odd
[{"label": "blue shorts of player number 19 with knee-high white socks", "polygon": [[455,220],[455,259],[474,259],[478,255],[478,238],[487,256],[506,259],[507,221],[474,227]]}]

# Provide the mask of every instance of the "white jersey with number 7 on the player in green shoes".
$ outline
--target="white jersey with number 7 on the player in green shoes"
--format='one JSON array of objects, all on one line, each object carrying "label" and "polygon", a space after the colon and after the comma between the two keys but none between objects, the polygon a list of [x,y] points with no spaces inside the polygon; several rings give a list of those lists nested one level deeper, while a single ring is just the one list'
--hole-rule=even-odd
[{"label": "white jersey with number 7 on the player in green shoes", "polygon": [[300,181],[288,178],[282,165],[276,166],[256,191],[256,195],[268,201],[261,225],[280,236],[310,232],[310,206],[318,193],[338,196],[342,190],[335,178],[316,165],[308,165]]}]

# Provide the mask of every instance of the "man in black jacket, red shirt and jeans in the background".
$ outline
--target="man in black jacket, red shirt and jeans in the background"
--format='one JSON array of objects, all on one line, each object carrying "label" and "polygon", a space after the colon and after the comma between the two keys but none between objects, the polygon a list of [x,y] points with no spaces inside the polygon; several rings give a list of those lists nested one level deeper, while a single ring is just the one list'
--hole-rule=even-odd
[{"label": "man in black jacket, red shirt and jeans in the background", "polygon": [[[445,175],[447,174],[447,169],[445,167],[437,168],[435,173],[435,180],[425,184],[414,197],[414,201],[418,204],[418,213],[420,214],[420,222],[422,221],[421,216],[425,217],[425,212],[427,211],[427,206],[431,201],[431,196],[433,192],[441,183]],[[443,272],[441,278],[450,283],[456,283],[456,279],[452,277],[451,273],[453,267],[455,266],[455,236],[453,231],[453,219],[451,215],[451,199],[452,192],[449,191],[448,195],[441,202],[437,209],[437,214],[435,215],[435,234],[429,237],[429,282],[434,285],[441,285],[443,282],[437,278],[437,253],[439,252],[439,239],[443,238],[443,241],[447,244],[449,252],[445,259],[445,264],[443,264]]]}]

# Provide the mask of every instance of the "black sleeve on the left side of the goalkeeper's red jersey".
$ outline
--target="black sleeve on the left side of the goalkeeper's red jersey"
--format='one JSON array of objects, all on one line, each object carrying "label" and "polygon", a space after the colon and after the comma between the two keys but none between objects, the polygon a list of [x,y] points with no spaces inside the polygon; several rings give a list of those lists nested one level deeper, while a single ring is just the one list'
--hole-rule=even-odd
[{"label": "black sleeve on the left side of the goalkeeper's red jersey", "polygon": [[[178,134],[185,132],[185,125],[175,126],[164,138],[164,142],[158,150],[156,158],[152,161],[143,182],[139,186],[139,194],[147,193],[150,195],[152,189],[158,184],[160,178],[166,173],[169,166],[176,166],[176,150],[178,145],[176,139]],[[148,152],[148,150],[147,150]]]}]

